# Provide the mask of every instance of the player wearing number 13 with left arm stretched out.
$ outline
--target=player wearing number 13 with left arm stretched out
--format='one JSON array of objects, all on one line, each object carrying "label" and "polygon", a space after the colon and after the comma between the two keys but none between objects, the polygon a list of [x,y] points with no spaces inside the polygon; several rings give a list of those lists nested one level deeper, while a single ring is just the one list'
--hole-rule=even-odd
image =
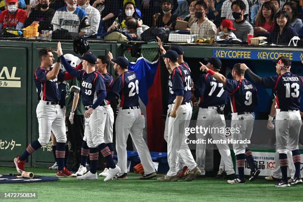
[{"label": "player wearing number 13 with left arm stretched out", "polygon": [[276,96],[276,149],[279,153],[279,163],[282,179],[275,187],[289,187],[287,180],[288,159],[287,152],[293,154],[296,168],[292,185],[302,184],[299,151],[299,134],[302,125],[299,111],[303,78],[290,72],[291,61],[286,57],[279,58],[276,63],[277,76],[261,78],[255,75],[246,65],[242,69],[247,72],[253,82],[272,88]]}]

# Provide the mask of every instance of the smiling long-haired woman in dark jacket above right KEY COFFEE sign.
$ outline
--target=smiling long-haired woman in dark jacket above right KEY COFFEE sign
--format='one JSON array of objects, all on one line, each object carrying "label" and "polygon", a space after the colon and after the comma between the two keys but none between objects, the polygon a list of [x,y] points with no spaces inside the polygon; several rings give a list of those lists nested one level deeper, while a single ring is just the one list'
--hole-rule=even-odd
[{"label": "smiling long-haired woman in dark jacket above right KEY COFFEE sign", "polygon": [[275,29],[270,33],[269,42],[288,44],[294,36],[298,36],[298,33],[289,25],[287,12],[284,10],[277,12]]}]

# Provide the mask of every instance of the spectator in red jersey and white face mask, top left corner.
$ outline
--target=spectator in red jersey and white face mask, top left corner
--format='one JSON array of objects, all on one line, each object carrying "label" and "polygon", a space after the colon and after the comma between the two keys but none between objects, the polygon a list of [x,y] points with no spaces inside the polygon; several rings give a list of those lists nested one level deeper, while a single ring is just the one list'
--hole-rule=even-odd
[{"label": "spectator in red jersey and white face mask, top left corner", "polygon": [[5,28],[23,29],[26,11],[18,8],[18,0],[6,0],[7,9],[0,13],[0,32]]}]

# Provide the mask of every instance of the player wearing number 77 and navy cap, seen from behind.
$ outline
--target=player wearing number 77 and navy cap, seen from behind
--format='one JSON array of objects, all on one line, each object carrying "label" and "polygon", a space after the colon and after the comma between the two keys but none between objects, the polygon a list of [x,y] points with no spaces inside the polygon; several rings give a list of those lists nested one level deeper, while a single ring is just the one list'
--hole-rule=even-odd
[{"label": "player wearing number 77 and navy cap, seen from behind", "polygon": [[[221,60],[215,57],[205,58],[206,67],[214,72],[219,72],[222,66]],[[201,63],[202,64],[202,63]],[[228,93],[223,84],[218,82],[211,74],[202,74],[195,84],[194,95],[200,98],[197,125],[203,128],[225,128],[223,114],[224,105],[227,102]],[[208,134],[196,133],[198,139],[206,139]],[[235,179],[235,171],[230,150],[223,133],[210,133],[213,140],[224,140],[225,143],[217,144],[223,162],[222,167],[226,171],[228,179]],[[196,162],[205,174],[205,148],[206,144],[196,145]]]}]

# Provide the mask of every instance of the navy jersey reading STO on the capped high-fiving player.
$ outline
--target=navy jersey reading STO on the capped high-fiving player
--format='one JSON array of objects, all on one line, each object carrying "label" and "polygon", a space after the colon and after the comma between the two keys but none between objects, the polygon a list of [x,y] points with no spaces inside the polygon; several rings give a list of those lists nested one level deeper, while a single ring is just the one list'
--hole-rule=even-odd
[{"label": "navy jersey reading STO on the capped high-fiving player", "polygon": [[84,106],[93,105],[101,91],[106,91],[104,77],[98,71],[86,73],[84,70],[78,70],[77,79],[81,82],[81,95]]}]

